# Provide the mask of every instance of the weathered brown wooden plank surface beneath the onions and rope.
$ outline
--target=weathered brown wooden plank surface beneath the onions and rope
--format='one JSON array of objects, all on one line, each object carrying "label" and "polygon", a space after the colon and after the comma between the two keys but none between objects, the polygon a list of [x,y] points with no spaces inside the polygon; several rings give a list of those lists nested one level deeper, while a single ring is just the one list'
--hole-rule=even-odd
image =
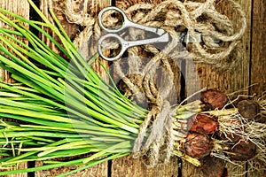
[{"label": "weathered brown wooden plank surface beneath the onions and rope", "polygon": [[[57,15],[59,20],[62,22],[63,27],[65,27],[66,32],[71,38],[79,33],[81,27],[78,27],[74,24],[69,24],[66,22],[66,19],[60,10],[60,3],[64,0],[53,0],[56,2],[55,8],[58,9]],[[158,3],[160,0],[145,0],[146,2]],[[234,68],[231,71],[225,71],[220,73],[214,71],[208,65],[185,65],[184,64],[184,78],[187,84],[190,86],[195,85],[194,88],[199,86],[201,88],[217,88],[223,90],[225,93],[232,93],[240,89],[247,88],[249,85],[256,83],[255,87],[248,89],[249,95],[254,93],[262,93],[266,90],[266,1],[265,0],[236,0],[241,4],[243,10],[246,12],[246,22],[247,29],[246,34],[242,39],[241,44],[241,54],[242,60],[239,63],[238,67]],[[72,0],[73,5],[76,8],[82,7],[82,0]],[[100,9],[109,6],[117,5],[121,6],[122,4],[134,4],[142,2],[142,0],[89,0],[89,5],[92,7],[91,10],[99,11]],[[35,0],[35,3],[40,6],[40,9],[47,13],[47,0]],[[27,4],[27,0],[0,0],[0,7],[16,12],[20,15],[23,15],[27,18],[34,18],[30,16],[31,9]],[[221,6],[221,8],[226,10],[226,6]],[[235,14],[231,14],[235,19]],[[1,24],[0,24],[1,25]],[[97,68],[97,65],[96,65]],[[192,72],[198,72],[200,75],[199,81],[190,75]],[[0,72],[1,77],[6,81],[9,80],[9,76],[4,71]],[[197,85],[197,86],[196,86]],[[194,89],[193,87],[184,88],[181,90],[182,93],[191,93]],[[242,93],[242,92],[240,92]],[[41,162],[32,165],[42,165]],[[24,164],[22,166],[27,166]],[[232,176],[233,173],[244,172],[248,165],[243,163],[243,167],[235,168],[232,165],[229,167],[229,176]],[[69,169],[74,169],[75,166],[52,169],[50,171],[43,171],[37,173],[21,173],[19,175],[10,175],[10,176],[55,176],[56,174],[66,172]],[[91,177],[192,177],[192,176],[202,176],[200,169],[193,167],[192,165],[182,162],[177,158],[173,158],[172,162],[168,165],[158,165],[153,169],[147,168],[142,164],[141,159],[132,159],[130,157],[115,159],[110,162],[106,162],[97,166],[94,166],[90,169],[86,169],[81,173],[74,174],[73,176],[91,176]],[[240,175],[240,177],[262,177],[266,176],[266,173],[246,173]]]}]

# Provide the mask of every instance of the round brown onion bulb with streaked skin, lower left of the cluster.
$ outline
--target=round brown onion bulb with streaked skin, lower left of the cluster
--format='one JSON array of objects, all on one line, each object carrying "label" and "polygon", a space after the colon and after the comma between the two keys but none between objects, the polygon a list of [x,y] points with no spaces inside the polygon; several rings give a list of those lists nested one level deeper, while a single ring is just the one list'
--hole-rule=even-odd
[{"label": "round brown onion bulb with streaked skin, lower left of the cluster", "polygon": [[204,158],[210,154],[213,143],[207,135],[189,134],[183,144],[185,153],[192,158]]}]

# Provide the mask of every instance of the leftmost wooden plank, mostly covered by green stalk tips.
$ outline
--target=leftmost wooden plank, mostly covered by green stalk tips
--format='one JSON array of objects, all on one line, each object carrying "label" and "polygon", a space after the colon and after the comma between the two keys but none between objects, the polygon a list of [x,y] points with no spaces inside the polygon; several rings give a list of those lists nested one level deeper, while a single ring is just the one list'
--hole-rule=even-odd
[{"label": "leftmost wooden plank, mostly covered by green stalk tips", "polygon": [[[29,19],[29,4],[27,3],[27,0],[1,0],[0,7],[10,12],[19,14],[22,17],[25,17],[26,19]],[[4,26],[4,24],[0,21],[0,27],[6,27],[6,26]],[[25,41],[25,43],[27,43],[27,41]],[[4,81],[6,82],[12,82],[9,73],[1,68],[0,68],[0,77],[3,78]],[[27,163],[23,163],[20,164],[18,167],[11,167],[6,170],[22,169],[22,168],[27,168]],[[10,174],[7,175],[7,177],[27,177],[27,173]]]}]

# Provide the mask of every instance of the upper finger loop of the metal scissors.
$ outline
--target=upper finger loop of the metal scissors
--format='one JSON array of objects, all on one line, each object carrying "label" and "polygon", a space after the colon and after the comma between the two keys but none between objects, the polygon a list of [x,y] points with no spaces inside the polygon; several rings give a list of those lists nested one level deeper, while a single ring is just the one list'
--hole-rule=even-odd
[{"label": "upper finger loop of the metal scissors", "polygon": [[[107,12],[109,10],[114,10],[116,12],[120,12],[121,13],[121,16],[122,16],[122,24],[121,24],[121,27],[117,28],[117,29],[111,29],[111,28],[107,28],[104,26],[103,22],[102,22],[102,16],[104,14],[104,12]],[[120,32],[121,30],[123,30],[124,28],[128,27],[129,26],[129,23],[131,23],[129,21],[129,19],[127,18],[126,14],[124,12],[121,11],[121,9],[117,8],[117,7],[113,7],[113,6],[110,6],[110,7],[106,7],[104,9],[102,9],[102,11],[100,11],[98,13],[98,24],[99,26],[104,29],[106,32],[108,33],[118,33]]]}]

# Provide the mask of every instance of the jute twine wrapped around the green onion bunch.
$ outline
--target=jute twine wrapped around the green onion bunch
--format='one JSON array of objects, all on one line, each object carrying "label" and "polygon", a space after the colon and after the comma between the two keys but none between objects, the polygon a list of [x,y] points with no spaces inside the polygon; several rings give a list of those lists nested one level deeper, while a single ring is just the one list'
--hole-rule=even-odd
[{"label": "jute twine wrapped around the green onion bunch", "polygon": [[[152,119],[154,119],[153,122]],[[133,158],[147,156],[148,165],[151,167],[157,165],[160,160],[168,163],[174,147],[171,134],[172,121],[171,106],[168,101],[164,101],[160,108],[153,107],[140,127],[132,151]],[[151,123],[153,126],[149,127]]]}]

